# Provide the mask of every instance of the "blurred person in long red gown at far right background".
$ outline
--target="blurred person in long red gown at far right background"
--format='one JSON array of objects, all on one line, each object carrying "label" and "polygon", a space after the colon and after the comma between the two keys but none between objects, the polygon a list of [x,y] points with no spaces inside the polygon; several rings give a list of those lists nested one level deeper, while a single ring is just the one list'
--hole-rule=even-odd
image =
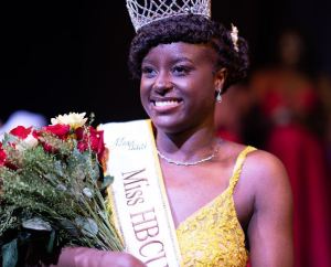
[{"label": "blurred person in long red gown at far right background", "polygon": [[302,72],[305,52],[301,35],[285,31],[278,43],[279,63],[253,75],[250,89],[261,111],[259,122],[264,127],[259,129],[265,130],[264,142],[254,145],[278,156],[289,173],[295,204],[296,266],[322,267],[331,266],[327,159],[322,141],[325,113],[321,109],[317,85]]}]

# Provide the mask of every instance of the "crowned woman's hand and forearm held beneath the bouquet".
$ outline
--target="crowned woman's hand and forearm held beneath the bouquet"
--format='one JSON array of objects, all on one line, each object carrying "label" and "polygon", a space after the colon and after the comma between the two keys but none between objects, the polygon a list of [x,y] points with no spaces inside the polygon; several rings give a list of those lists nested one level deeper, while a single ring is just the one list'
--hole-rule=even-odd
[{"label": "crowned woman's hand and forearm held beneath the bouquet", "polygon": [[146,267],[127,253],[105,252],[86,247],[62,249],[57,265],[51,267]]}]

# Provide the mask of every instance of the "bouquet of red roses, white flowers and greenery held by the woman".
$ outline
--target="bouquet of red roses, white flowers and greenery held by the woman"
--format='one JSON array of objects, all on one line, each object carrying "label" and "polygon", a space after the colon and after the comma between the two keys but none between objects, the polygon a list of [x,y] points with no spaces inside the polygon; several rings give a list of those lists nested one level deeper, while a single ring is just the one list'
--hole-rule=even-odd
[{"label": "bouquet of red roses, white flowers and greenery held by the woman", "polygon": [[22,257],[28,260],[35,244],[44,255],[62,246],[122,249],[105,201],[111,178],[102,171],[107,154],[103,131],[86,121],[85,114],[70,114],[41,129],[19,126],[4,134],[0,142],[3,267],[18,265]]}]

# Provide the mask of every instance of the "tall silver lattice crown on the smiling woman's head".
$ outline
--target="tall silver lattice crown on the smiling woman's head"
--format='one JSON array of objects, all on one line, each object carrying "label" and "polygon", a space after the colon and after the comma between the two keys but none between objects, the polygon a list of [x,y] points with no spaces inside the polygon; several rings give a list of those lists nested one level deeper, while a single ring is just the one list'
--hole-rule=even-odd
[{"label": "tall silver lattice crown on the smiling woman's head", "polygon": [[211,0],[127,0],[136,32],[157,20],[182,14],[211,18]]}]

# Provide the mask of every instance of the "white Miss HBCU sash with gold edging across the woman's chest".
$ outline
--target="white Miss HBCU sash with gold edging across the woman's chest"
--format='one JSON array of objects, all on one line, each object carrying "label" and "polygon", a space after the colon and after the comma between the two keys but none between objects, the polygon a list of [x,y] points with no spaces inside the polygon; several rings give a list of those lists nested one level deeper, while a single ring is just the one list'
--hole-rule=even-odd
[{"label": "white Miss HBCU sash with gold edging across the woman's chest", "polygon": [[148,267],[179,267],[180,249],[150,120],[106,124],[108,192],[128,253]]}]

